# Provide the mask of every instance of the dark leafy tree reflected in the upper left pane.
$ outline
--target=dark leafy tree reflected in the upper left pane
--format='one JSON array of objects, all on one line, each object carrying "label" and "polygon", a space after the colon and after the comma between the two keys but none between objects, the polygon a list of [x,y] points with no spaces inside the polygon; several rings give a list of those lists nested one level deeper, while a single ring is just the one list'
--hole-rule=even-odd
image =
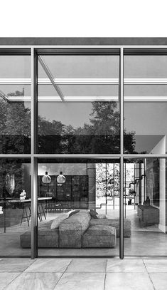
[{"label": "dark leafy tree reflected in the upper left pane", "polygon": [[[23,95],[16,91],[8,95]],[[9,102],[0,93],[0,150],[3,153],[26,152],[30,143],[31,113],[23,102]],[[24,150],[25,149],[25,150]]]}]

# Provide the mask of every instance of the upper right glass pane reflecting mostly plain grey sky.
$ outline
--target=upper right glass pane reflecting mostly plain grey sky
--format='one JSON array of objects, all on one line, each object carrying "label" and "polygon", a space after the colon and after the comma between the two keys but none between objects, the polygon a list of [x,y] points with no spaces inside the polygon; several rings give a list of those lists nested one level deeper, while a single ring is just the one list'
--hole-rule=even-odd
[{"label": "upper right glass pane reflecting mostly plain grey sky", "polygon": [[166,153],[167,56],[124,56],[124,153]]}]

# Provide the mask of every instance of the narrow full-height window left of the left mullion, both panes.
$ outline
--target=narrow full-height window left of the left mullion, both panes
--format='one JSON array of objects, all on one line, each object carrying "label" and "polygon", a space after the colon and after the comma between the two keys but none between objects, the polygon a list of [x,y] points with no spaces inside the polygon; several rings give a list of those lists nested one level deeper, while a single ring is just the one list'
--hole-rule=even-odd
[{"label": "narrow full-height window left of the left mullion, both panes", "polygon": [[0,53],[0,130],[0,255],[31,256],[20,246],[31,229],[30,50]]}]

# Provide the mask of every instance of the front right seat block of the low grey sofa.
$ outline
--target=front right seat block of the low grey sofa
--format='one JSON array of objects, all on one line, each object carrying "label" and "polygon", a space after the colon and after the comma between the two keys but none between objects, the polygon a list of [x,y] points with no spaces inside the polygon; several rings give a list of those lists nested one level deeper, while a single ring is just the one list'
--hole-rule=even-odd
[{"label": "front right seat block of the low grey sofa", "polygon": [[82,235],[82,247],[114,248],[117,242],[116,236],[115,227],[103,225],[92,226]]}]

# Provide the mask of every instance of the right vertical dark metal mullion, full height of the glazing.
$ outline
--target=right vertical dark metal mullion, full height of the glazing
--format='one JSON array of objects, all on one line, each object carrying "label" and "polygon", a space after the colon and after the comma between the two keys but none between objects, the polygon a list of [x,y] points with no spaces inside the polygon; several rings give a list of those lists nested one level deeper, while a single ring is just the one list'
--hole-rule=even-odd
[{"label": "right vertical dark metal mullion, full height of the glazing", "polygon": [[120,198],[119,198],[119,257],[124,259],[124,48],[120,48],[119,66],[120,110]]}]

